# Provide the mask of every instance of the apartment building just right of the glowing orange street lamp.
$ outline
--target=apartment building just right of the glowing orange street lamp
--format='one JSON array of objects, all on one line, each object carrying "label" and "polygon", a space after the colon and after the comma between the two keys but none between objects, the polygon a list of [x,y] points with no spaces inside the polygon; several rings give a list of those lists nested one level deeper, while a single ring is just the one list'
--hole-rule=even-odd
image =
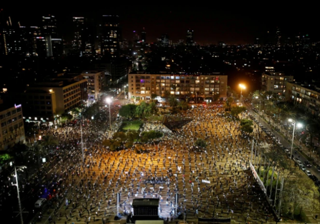
[{"label": "apartment building just right of the glowing orange street lamp", "polygon": [[284,100],[286,83],[293,81],[292,75],[285,75],[281,72],[264,72],[262,73],[262,90],[277,93]]}]

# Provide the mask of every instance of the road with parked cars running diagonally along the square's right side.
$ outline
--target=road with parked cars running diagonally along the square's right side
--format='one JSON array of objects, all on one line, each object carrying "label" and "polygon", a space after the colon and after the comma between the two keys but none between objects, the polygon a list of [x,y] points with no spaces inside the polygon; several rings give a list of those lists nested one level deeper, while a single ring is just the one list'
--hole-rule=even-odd
[{"label": "road with parked cars running diagonally along the square's right side", "polygon": [[[246,103],[245,106],[247,107],[248,112],[250,112],[252,115],[257,115],[257,120],[259,120],[259,114],[254,112],[251,109],[251,105],[249,103]],[[284,147],[291,147],[291,142],[287,141],[285,138],[282,137],[282,135],[280,135],[278,132],[276,132],[273,128],[271,128],[271,126],[262,118],[260,118],[260,124],[262,124],[265,128],[267,128],[269,131],[271,131],[272,133],[274,133],[274,137],[276,139],[278,139],[280,141],[280,143],[284,146]],[[261,131],[261,128],[259,128],[259,130]],[[295,150],[292,150],[292,157],[295,157],[297,159],[299,159],[302,163],[304,163],[305,161],[308,161],[303,154],[301,154],[299,151],[297,151],[297,153],[295,154]],[[307,168],[307,167],[306,167]],[[318,179],[320,179],[320,172],[317,170],[317,168],[315,166],[312,166],[310,168],[307,168],[307,170],[309,170],[311,172],[311,174],[315,175]],[[306,174],[307,175],[307,174]]]}]

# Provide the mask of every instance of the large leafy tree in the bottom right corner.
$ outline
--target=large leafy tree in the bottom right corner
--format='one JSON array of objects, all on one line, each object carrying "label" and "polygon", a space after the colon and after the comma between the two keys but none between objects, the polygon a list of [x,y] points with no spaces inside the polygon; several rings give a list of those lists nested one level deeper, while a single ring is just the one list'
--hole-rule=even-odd
[{"label": "large leafy tree in the bottom right corner", "polygon": [[310,178],[290,178],[284,182],[282,213],[294,219],[295,212],[302,209],[311,213],[320,211],[318,187]]}]

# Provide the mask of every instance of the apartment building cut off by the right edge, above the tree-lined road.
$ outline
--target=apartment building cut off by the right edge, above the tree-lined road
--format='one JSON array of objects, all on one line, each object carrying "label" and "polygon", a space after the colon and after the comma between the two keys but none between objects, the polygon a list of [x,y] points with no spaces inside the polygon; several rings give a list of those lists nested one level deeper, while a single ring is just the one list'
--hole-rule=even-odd
[{"label": "apartment building cut off by the right edge, above the tree-lined road", "polygon": [[320,84],[298,84],[288,82],[286,100],[297,107],[320,116]]}]

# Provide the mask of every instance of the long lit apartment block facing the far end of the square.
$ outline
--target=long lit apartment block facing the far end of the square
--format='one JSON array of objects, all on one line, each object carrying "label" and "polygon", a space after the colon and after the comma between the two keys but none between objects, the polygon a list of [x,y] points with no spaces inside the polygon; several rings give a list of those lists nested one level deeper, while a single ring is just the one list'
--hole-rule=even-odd
[{"label": "long lit apartment block facing the far end of the square", "polygon": [[148,99],[151,94],[164,96],[166,91],[178,98],[197,95],[211,99],[227,98],[227,75],[169,73],[138,73],[128,75],[130,98]]}]

